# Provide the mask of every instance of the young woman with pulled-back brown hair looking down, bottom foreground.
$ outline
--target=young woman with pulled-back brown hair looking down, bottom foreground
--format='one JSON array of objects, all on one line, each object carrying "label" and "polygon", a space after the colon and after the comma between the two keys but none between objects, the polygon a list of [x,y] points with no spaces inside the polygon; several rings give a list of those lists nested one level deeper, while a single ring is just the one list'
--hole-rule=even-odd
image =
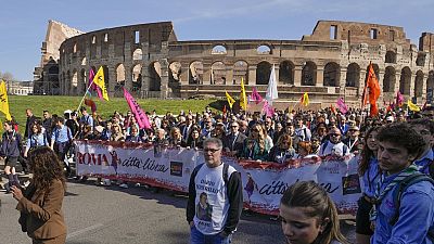
[{"label": "young woman with pulled-back brown hair looking down, bottom foreground", "polygon": [[348,244],[341,233],[333,201],[314,181],[291,185],[283,193],[279,211],[288,243]]}]

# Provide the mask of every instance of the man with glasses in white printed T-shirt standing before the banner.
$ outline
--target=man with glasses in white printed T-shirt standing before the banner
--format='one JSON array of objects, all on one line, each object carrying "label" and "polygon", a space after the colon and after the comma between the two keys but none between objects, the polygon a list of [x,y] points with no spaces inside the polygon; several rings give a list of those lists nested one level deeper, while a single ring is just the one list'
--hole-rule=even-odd
[{"label": "man with glasses in white printed T-shirt standing before the banner", "polygon": [[221,140],[206,139],[205,164],[196,166],[190,177],[187,221],[191,244],[229,244],[240,221],[241,176],[232,166],[222,163],[221,150]]}]

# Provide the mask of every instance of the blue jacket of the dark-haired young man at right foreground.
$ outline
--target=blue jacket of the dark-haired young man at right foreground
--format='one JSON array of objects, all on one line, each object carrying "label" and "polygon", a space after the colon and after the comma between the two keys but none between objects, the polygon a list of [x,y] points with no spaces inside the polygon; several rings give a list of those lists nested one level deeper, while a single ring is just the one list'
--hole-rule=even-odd
[{"label": "blue jacket of the dark-haired young man at right foreground", "polygon": [[[382,190],[397,175],[385,177]],[[393,201],[395,189],[396,185],[376,205],[375,231],[371,244],[432,244],[426,233],[434,228],[434,185],[421,181],[409,187],[401,195],[399,209],[396,209]],[[391,226],[388,221],[396,210],[399,210],[399,219]]]}]

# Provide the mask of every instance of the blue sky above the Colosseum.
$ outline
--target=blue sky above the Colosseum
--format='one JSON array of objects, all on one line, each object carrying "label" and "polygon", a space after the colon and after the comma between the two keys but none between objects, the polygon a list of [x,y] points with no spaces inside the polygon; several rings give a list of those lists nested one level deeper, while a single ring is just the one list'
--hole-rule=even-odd
[{"label": "blue sky above the Colosseum", "polygon": [[354,21],[401,26],[418,44],[434,33],[433,10],[433,0],[2,0],[0,72],[33,79],[49,20],[82,31],[173,21],[179,40],[299,40],[318,20]]}]

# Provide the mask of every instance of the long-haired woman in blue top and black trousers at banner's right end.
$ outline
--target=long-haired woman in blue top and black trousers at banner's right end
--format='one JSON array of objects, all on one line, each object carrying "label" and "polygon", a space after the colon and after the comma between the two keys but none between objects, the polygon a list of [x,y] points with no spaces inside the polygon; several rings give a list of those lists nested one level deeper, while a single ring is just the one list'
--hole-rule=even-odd
[{"label": "long-haired woman in blue top and black trousers at banner's right end", "polygon": [[363,184],[363,195],[360,197],[356,214],[356,241],[357,244],[370,244],[373,231],[370,228],[369,213],[374,202],[375,185],[379,183],[381,174],[376,152],[379,144],[375,137],[380,127],[371,127],[365,133],[363,149],[361,150],[361,159],[358,167]]}]

